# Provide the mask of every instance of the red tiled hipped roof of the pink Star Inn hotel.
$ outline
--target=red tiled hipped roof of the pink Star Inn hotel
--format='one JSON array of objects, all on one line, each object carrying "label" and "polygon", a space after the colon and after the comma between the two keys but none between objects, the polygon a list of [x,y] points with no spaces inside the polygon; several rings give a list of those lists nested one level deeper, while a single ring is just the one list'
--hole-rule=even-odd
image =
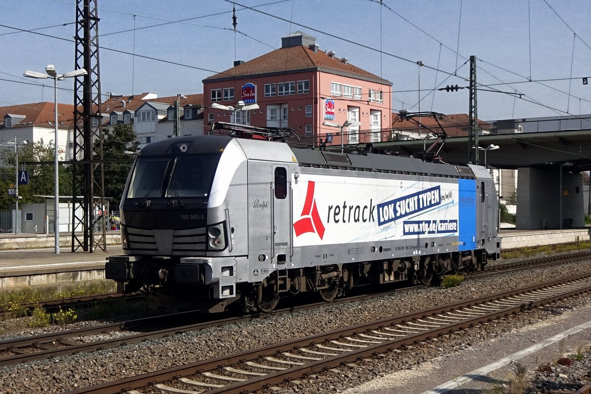
[{"label": "red tiled hipped roof of the pink Star Inn hotel", "polygon": [[258,74],[281,73],[285,71],[298,71],[306,69],[326,69],[340,73],[350,74],[352,77],[378,80],[384,84],[391,84],[375,74],[362,70],[359,67],[345,62],[337,57],[331,57],[324,51],[314,52],[309,47],[297,45],[294,47],[279,48],[243,64],[232,67],[226,71],[207,77],[203,82],[211,82],[216,79],[242,78]]}]

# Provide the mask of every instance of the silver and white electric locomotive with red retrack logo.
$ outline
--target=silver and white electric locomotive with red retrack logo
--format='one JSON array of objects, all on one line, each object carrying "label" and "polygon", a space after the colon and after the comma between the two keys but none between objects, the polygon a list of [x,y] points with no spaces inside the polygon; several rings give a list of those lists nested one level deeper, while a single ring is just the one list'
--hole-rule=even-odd
[{"label": "silver and white electric locomotive with red retrack logo", "polygon": [[284,294],[429,284],[500,252],[483,167],[236,136],[148,144],[120,209],[125,255],[105,276],[168,310],[271,311]]}]

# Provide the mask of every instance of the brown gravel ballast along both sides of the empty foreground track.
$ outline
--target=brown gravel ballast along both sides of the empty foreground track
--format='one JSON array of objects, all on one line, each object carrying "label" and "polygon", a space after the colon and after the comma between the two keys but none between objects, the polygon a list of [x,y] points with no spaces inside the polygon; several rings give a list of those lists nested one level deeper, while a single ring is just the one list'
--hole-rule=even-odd
[{"label": "brown gravel ballast along both sides of the empty foreground track", "polygon": [[[587,271],[589,271],[589,262],[532,269],[524,273],[508,273],[492,278],[475,279],[456,288],[428,288],[345,305],[327,305],[313,311],[208,328],[195,333],[183,333],[92,354],[77,354],[23,363],[0,369],[0,393],[35,393],[41,390],[48,393],[63,392]],[[384,354],[372,360],[363,360],[342,367],[342,372],[338,374],[310,376],[270,391],[278,393],[342,392],[376,377],[385,376],[391,371],[412,370],[417,366],[421,366],[420,370],[424,370],[431,360],[447,358],[452,354],[462,354],[472,349],[475,344],[498,341],[516,328],[529,327],[541,320],[563,315],[565,311],[588,305],[589,301],[589,297],[582,296],[553,307],[538,308],[515,319],[499,320],[494,324],[450,334],[440,341],[430,341],[412,349]],[[93,324],[93,322],[79,324]],[[76,327],[79,324],[76,324]],[[61,329],[63,328],[60,327],[59,330]],[[35,332],[38,331],[27,330],[25,334],[31,335]],[[464,372],[468,370],[470,369]],[[556,371],[548,373],[553,372]]]}]

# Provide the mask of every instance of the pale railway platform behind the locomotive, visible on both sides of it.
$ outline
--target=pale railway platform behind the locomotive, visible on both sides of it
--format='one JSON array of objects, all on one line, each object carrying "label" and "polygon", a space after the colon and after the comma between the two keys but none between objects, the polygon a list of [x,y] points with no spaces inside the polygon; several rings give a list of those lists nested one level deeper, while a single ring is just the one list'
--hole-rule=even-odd
[{"label": "pale railway platform behind the locomotive, visible on both sides of it", "polygon": [[[564,230],[502,229],[502,249],[591,240],[591,228]],[[60,238],[60,254],[54,254],[53,234],[0,235],[0,291],[28,286],[60,289],[105,279],[106,258],[123,253],[119,233],[108,234],[107,250],[70,252],[71,236]],[[64,242],[63,244],[61,242]]]}]

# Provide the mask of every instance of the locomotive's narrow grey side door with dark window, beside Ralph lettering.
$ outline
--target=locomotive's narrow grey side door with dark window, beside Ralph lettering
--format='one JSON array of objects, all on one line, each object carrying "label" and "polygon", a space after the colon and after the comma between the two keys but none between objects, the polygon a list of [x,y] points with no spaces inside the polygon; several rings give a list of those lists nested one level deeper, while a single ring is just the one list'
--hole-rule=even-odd
[{"label": "locomotive's narrow grey side door with dark window, beside Ralph lettering", "polygon": [[271,184],[271,228],[273,262],[284,264],[291,256],[291,188],[287,165],[274,165]]}]

